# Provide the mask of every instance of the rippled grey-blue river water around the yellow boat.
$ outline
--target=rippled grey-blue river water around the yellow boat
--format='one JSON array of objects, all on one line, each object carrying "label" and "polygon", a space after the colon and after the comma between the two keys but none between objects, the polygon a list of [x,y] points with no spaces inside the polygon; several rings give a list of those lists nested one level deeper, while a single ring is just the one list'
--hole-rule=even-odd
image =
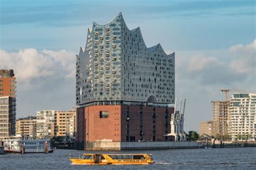
[{"label": "rippled grey-blue river water around the yellow boat", "polygon": [[256,169],[256,147],[119,151],[109,153],[151,153],[156,164],[72,165],[69,153],[75,157],[84,152],[56,150],[49,154],[0,155],[0,169]]}]

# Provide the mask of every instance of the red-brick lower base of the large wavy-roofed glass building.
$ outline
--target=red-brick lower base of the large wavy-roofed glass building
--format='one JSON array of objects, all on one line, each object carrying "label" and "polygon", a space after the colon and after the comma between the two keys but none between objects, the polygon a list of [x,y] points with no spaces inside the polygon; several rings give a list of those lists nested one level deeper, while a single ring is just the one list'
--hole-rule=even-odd
[{"label": "red-brick lower base of the large wavy-roofed glass building", "polygon": [[[102,139],[112,141],[172,141],[174,108],[144,105],[91,105],[77,109],[77,148]],[[103,117],[101,114],[106,113]]]}]

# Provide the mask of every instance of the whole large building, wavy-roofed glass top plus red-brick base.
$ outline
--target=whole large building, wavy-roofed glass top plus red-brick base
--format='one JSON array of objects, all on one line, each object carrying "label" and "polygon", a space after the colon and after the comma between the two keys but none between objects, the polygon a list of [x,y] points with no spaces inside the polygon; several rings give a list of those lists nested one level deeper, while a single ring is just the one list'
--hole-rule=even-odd
[{"label": "whole large building, wavy-roofed glass top plus red-brick base", "polygon": [[129,30],[122,13],[93,23],[76,61],[78,145],[172,140],[164,134],[174,112],[174,59],[160,44],[147,48],[140,28]]}]

